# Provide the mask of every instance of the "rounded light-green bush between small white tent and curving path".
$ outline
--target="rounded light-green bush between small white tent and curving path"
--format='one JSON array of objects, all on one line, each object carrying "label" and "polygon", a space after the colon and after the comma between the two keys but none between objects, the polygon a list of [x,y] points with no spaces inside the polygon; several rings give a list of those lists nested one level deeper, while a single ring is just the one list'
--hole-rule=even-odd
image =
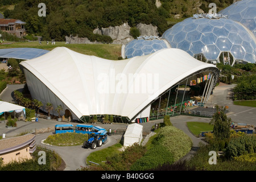
[{"label": "rounded light-green bush between small white tent and curving path", "polygon": [[192,140],[183,131],[174,126],[162,127],[159,133],[152,141],[153,144],[160,144],[167,148],[174,155],[174,160],[177,161],[186,155],[192,147]]}]

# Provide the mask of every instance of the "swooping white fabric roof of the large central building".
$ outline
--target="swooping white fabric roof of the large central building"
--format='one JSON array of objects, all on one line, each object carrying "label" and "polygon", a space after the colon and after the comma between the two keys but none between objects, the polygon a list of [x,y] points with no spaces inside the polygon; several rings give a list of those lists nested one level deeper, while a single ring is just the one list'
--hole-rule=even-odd
[{"label": "swooping white fabric roof of the large central building", "polygon": [[[215,65],[175,48],[115,61],[57,47],[20,65],[42,81],[78,118],[112,114],[131,119],[159,94],[192,73],[206,68],[217,70]],[[137,82],[138,78],[143,81]]]}]

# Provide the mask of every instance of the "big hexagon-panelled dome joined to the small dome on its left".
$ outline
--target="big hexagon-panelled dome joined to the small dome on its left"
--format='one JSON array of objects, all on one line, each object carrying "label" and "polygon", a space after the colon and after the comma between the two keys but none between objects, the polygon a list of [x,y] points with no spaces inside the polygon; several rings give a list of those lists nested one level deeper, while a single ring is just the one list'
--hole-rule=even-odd
[{"label": "big hexagon-panelled dome joined to the small dome on its left", "polygon": [[158,38],[158,44],[155,39],[141,38],[126,44],[123,46],[123,57],[147,55],[153,50],[172,47],[182,49],[206,63],[255,63],[255,36],[243,24],[228,17],[222,14],[195,14],[164,32],[162,38]]}]

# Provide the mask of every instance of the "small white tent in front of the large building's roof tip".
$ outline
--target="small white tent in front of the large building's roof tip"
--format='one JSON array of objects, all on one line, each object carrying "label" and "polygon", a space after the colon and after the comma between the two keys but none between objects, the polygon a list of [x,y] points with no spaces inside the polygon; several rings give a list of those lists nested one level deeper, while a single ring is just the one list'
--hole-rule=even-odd
[{"label": "small white tent in front of the large building's roof tip", "polygon": [[143,126],[133,123],[127,127],[125,131],[123,146],[131,146],[134,143],[141,144]]}]

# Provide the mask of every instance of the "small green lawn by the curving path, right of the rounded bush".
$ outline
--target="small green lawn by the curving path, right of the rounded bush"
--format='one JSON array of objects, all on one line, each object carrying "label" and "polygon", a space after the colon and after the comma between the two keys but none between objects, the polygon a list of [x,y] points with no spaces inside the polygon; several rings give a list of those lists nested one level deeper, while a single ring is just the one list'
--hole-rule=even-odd
[{"label": "small green lawn by the curving path, right of the rounded bush", "polygon": [[204,122],[187,122],[189,131],[196,137],[199,137],[201,131],[212,131],[213,125]]}]

